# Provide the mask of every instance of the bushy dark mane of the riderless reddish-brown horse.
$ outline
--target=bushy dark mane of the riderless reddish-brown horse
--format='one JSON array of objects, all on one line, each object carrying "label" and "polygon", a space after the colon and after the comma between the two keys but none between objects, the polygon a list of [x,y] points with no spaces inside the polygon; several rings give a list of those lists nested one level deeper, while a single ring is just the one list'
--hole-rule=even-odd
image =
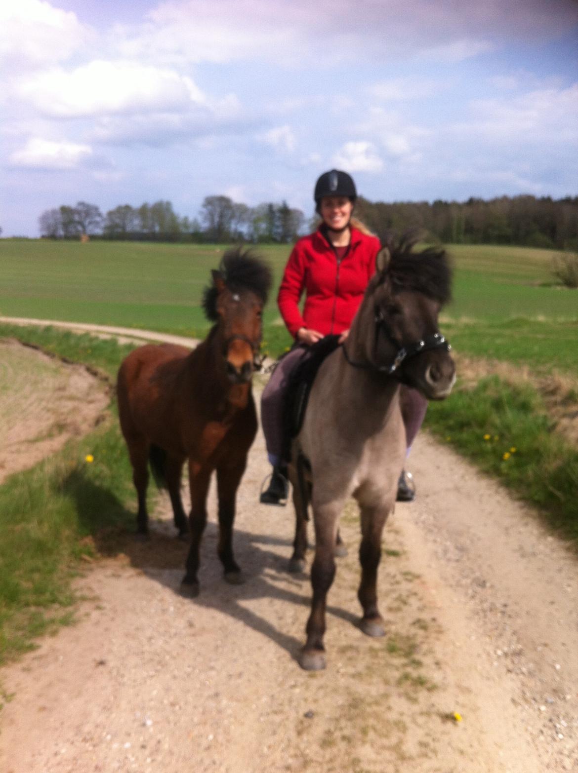
[{"label": "bushy dark mane of the riderless reddish-brown horse", "polygon": [[[272,274],[268,265],[251,248],[232,247],[219,264],[225,287],[231,292],[249,290],[265,304],[271,288]],[[214,284],[203,291],[203,309],[207,319],[217,321],[217,295]]]}]

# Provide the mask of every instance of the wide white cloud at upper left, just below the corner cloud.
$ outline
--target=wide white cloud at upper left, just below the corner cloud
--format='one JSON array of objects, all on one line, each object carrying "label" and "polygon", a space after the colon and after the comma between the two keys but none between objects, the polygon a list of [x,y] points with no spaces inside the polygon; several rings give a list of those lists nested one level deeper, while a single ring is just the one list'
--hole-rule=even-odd
[{"label": "wide white cloud at upper left, just below the corner cloud", "polygon": [[64,118],[178,111],[205,101],[190,77],[173,70],[103,60],[34,74],[17,92],[43,114]]}]

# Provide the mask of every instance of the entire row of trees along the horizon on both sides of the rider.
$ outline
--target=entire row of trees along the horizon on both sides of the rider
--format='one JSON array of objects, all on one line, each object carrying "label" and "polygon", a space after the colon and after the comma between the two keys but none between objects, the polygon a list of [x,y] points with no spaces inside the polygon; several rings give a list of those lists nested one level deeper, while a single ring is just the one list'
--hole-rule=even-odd
[{"label": "entire row of trees along the horizon on both sides of the rider", "polygon": [[[447,202],[371,202],[357,199],[356,216],[383,240],[390,230],[417,228],[445,243],[519,244],[578,249],[578,196],[501,196]],[[228,196],[206,196],[198,218],[177,215],[169,201],[133,207],[124,204],[104,215],[94,204],[48,209],[39,217],[41,236],[227,243],[291,243],[306,222],[300,209],[282,203],[247,206]]]}]

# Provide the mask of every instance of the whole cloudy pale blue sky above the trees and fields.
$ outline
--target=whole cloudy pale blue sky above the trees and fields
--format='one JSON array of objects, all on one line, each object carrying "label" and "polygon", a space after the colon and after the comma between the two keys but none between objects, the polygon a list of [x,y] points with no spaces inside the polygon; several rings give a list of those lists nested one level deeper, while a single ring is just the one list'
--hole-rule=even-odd
[{"label": "whole cloudy pale blue sky above the trees and fields", "polygon": [[578,194],[575,0],[0,0],[0,226],[45,209]]}]

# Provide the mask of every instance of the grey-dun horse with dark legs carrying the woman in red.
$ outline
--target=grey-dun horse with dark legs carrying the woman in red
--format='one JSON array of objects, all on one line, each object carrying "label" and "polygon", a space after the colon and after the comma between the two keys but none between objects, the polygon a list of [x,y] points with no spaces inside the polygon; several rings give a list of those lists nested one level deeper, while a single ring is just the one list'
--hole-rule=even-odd
[{"label": "grey-dun horse with dark legs carrying the woman in red", "polygon": [[[313,602],[299,659],[304,669],[326,665],[325,606],[335,574],[338,520],[350,496],[361,510],[360,627],[370,636],[385,635],[376,584],[381,533],[405,460],[400,383],[429,400],[442,400],[455,381],[450,346],[437,322],[439,309],[450,298],[450,267],[443,250],[415,253],[415,243],[408,236],[397,247],[389,243],[381,250],[378,271],[347,340],[320,367],[303,427],[292,445],[289,477],[296,536],[291,570],[305,567],[309,502],[316,542]],[[303,472],[306,467],[310,474]]]}]

